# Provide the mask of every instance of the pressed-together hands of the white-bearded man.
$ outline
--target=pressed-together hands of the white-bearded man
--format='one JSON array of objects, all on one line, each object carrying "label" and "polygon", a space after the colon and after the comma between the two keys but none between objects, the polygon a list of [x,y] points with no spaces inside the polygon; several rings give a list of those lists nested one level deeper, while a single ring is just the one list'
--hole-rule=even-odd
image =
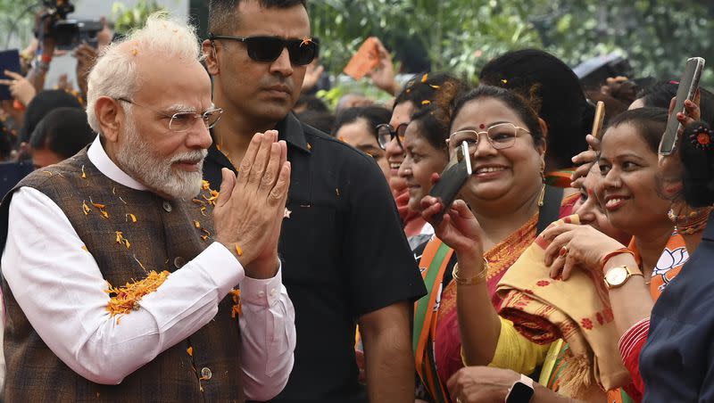
[{"label": "pressed-together hands of the white-bearded man", "polygon": [[236,177],[223,169],[213,210],[216,239],[237,255],[245,275],[270,278],[278,271],[278,238],[290,185],[287,146],[278,132],[253,136]]}]

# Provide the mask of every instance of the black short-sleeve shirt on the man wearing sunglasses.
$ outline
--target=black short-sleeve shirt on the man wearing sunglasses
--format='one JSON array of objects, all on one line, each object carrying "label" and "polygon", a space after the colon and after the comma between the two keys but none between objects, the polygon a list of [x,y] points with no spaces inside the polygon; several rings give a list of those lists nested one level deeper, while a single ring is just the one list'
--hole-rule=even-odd
[{"label": "black short-sleeve shirt on the man wearing sunglasses", "polygon": [[[276,128],[292,167],[278,252],[297,332],[295,366],[276,400],[366,401],[357,318],[426,289],[375,161],[292,113]],[[235,171],[212,145],[203,164],[212,187],[224,167]]]}]

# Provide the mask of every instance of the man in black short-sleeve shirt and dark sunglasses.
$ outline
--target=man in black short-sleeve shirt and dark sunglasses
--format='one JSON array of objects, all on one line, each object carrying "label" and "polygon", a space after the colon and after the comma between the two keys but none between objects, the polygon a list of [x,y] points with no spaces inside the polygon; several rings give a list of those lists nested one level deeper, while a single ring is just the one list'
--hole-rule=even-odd
[{"label": "man in black short-sleeve shirt and dark sunglasses", "polygon": [[[426,293],[377,164],[290,112],[317,53],[301,0],[212,0],[203,42],[224,109],[203,177],[215,187],[255,132],[276,128],[292,177],[279,254],[295,304],[295,366],[276,400],[366,401],[357,382],[355,323],[371,401],[414,401],[411,303]],[[234,169],[235,171],[235,169]]]}]

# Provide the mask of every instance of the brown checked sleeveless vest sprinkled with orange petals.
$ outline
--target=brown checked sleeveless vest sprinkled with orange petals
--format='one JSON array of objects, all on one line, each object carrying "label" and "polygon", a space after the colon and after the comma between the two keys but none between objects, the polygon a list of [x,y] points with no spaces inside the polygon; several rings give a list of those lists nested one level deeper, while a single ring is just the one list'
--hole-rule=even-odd
[{"label": "brown checked sleeveless vest sprinkled with orange petals", "polygon": [[[142,279],[149,270],[173,272],[213,242],[212,207],[205,202],[209,193],[202,191],[197,196],[203,201],[199,204],[167,201],[131,189],[99,172],[87,158],[86,149],[58,165],[35,171],[13,191],[21,186],[33,187],[57,203],[104,278],[115,286]],[[0,205],[3,248],[13,191]],[[101,205],[104,207],[98,207]],[[118,231],[129,247],[118,241]],[[101,385],[64,365],[29,324],[4,280],[2,286],[7,315],[4,401],[244,400],[238,355],[240,328],[238,318],[231,315],[235,302],[230,294],[220,302],[216,317],[187,340],[165,350],[119,385]]]}]

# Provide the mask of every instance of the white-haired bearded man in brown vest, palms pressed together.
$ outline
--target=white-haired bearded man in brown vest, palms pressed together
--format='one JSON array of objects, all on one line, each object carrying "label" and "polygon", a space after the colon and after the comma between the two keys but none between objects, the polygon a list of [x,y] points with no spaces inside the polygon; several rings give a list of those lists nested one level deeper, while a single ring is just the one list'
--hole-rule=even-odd
[{"label": "white-haired bearded man in brown vest, palms pressed together", "polygon": [[89,74],[88,149],[0,206],[4,401],[271,399],[293,366],[278,237],[286,144],[256,134],[220,193],[195,31],[152,16]]}]

